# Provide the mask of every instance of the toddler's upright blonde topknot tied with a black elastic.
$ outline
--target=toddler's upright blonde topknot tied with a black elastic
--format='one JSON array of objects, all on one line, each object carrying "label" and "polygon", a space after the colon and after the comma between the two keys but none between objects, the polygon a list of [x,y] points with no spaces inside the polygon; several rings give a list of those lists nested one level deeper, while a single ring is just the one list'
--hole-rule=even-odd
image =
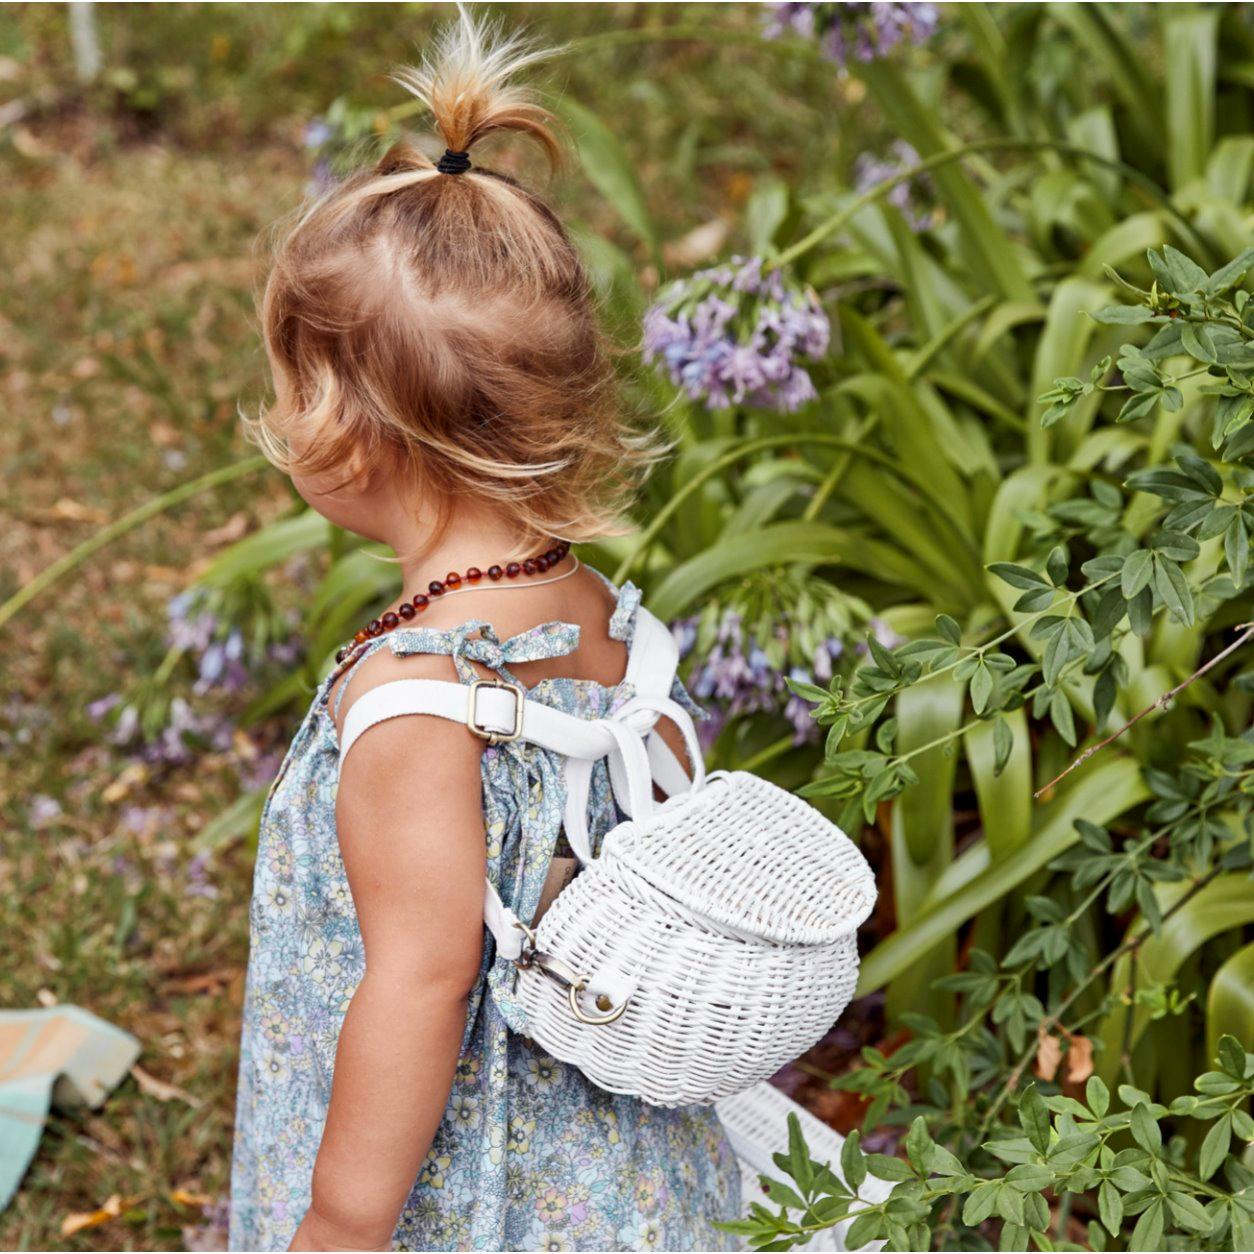
[{"label": "toddler's upright blonde topknot tied with a black elastic", "polygon": [[440,30],[421,64],[398,70],[394,78],[430,110],[448,152],[439,163],[446,174],[469,168],[446,168],[450,155],[464,158],[484,135],[518,130],[544,149],[557,164],[561,148],[553,135],[553,115],[533,94],[512,79],[520,70],[551,56],[519,33],[505,34],[500,23],[472,16],[458,6],[458,20]]}]

